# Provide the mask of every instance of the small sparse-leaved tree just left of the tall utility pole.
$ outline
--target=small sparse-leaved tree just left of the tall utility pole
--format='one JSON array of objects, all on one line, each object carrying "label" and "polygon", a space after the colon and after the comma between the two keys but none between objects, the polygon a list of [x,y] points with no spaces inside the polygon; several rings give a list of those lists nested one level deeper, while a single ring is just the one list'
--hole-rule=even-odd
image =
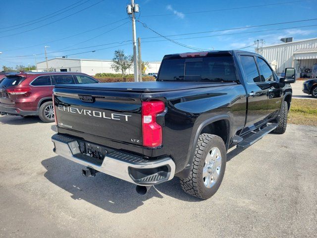
[{"label": "small sparse-leaved tree just left of the tall utility pole", "polygon": [[120,72],[122,74],[122,77],[124,77],[127,69],[130,68],[133,64],[133,56],[126,56],[124,55],[123,50],[116,50],[114,52],[112,61],[113,62],[111,63],[111,68],[116,72]]}]

